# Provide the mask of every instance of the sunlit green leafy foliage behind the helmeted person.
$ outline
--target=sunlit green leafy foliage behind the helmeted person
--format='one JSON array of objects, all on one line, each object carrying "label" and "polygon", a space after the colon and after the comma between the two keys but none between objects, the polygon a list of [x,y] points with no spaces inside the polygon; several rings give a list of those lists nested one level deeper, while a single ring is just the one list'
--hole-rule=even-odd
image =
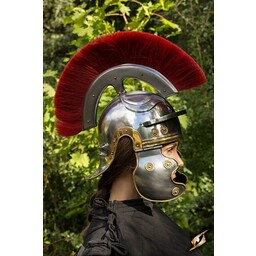
[{"label": "sunlit green leafy foliage behind the helmeted person", "polygon": [[[189,178],[186,193],[163,211],[191,237],[208,229],[203,255],[213,250],[213,1],[44,0],[44,255],[74,255],[87,224],[90,195],[97,180],[88,181],[98,164],[97,131],[63,138],[54,128],[53,97],[58,78],[71,56],[91,40],[118,30],[146,31],[182,47],[203,68],[208,83],[170,97],[181,119],[180,151]],[[127,90],[150,90],[128,81]],[[99,113],[113,98],[108,88]]]}]

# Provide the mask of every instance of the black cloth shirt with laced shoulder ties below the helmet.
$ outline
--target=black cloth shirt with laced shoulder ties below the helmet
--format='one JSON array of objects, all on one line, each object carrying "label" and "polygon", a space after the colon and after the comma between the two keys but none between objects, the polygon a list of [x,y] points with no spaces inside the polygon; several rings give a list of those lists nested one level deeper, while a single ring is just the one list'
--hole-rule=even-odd
[{"label": "black cloth shirt with laced shoulder ties below the helmet", "polygon": [[93,202],[92,221],[77,256],[201,256],[191,239],[152,202]]}]

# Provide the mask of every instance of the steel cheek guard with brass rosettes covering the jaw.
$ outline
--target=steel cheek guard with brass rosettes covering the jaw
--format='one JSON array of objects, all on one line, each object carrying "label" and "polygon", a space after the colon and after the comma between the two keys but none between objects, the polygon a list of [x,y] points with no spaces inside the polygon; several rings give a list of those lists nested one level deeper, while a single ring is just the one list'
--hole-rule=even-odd
[{"label": "steel cheek guard with brass rosettes covering the jaw", "polygon": [[[173,158],[162,155],[161,149],[136,153],[137,168],[133,179],[138,193],[153,202],[173,200],[185,192],[187,177],[177,172],[179,166]],[[176,178],[173,179],[173,174]]]}]

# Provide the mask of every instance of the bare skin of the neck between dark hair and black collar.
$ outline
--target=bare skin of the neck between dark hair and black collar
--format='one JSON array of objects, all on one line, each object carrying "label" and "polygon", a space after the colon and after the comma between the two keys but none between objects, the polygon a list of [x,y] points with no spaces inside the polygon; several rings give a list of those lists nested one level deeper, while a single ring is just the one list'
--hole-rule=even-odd
[{"label": "bare skin of the neck between dark hair and black collar", "polygon": [[134,183],[132,172],[124,173],[113,182],[109,201],[124,201],[141,198]]}]

